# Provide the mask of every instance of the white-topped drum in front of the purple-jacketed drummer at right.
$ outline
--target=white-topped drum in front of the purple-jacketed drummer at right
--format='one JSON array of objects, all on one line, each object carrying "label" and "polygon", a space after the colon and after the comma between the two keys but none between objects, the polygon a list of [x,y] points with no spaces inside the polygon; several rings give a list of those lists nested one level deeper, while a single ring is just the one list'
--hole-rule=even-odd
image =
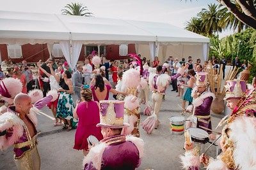
[{"label": "white-topped drum in front of the purple-jacketed drummer at right", "polygon": [[191,127],[188,129],[192,141],[197,143],[207,143],[209,134],[203,129]]}]

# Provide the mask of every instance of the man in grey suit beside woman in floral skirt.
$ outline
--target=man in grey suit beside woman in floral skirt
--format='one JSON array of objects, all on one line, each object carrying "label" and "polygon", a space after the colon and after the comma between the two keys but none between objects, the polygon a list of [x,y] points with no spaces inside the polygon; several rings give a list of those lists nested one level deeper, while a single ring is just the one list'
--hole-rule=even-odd
[{"label": "man in grey suit beside woman in floral skirt", "polygon": [[80,64],[77,64],[76,69],[77,71],[73,74],[73,85],[74,85],[74,91],[78,99],[81,99],[80,87],[83,85],[83,77],[82,77],[83,67]]}]

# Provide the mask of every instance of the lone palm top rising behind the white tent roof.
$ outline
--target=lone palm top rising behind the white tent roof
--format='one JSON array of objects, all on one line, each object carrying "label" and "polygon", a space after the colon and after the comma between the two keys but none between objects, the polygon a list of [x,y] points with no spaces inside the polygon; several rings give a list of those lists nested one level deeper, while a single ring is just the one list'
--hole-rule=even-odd
[{"label": "lone palm top rising behind the white tent roof", "polygon": [[81,3],[71,3],[65,6],[65,9],[61,10],[63,15],[78,15],[84,17],[92,17],[91,12],[88,11],[87,6],[83,6]]}]

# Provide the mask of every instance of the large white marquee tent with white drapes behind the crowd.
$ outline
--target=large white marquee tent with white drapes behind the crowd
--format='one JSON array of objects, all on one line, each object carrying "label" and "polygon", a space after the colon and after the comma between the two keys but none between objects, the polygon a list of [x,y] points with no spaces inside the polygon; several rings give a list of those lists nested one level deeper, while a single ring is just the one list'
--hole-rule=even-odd
[{"label": "large white marquee tent with white drapes behind the crowd", "polygon": [[0,11],[0,43],[47,43],[49,53],[53,43],[60,43],[68,64],[74,68],[83,44],[134,43],[137,53],[151,59],[191,55],[206,60],[209,38],[160,22]]}]

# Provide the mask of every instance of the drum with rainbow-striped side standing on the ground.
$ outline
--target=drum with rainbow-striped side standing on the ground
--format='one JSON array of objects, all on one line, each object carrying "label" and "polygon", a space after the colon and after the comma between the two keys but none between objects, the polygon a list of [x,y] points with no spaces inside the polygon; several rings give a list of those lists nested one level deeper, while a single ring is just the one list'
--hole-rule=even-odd
[{"label": "drum with rainbow-striped side standing on the ground", "polygon": [[172,134],[183,134],[185,129],[184,117],[170,117],[170,130]]}]

